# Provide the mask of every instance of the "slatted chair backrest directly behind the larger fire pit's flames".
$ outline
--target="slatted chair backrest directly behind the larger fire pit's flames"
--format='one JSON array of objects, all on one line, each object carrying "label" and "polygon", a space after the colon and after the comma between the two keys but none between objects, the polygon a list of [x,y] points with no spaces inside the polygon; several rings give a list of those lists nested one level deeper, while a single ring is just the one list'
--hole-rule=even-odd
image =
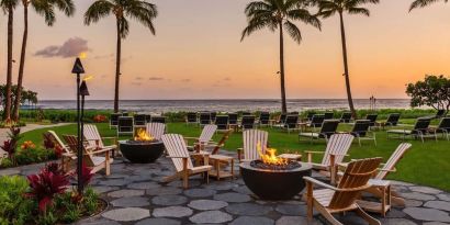
[{"label": "slatted chair backrest directly behind the larger fire pit's flames", "polygon": [[244,159],[255,160],[260,159],[258,154],[258,144],[261,145],[261,150],[265,153],[267,148],[269,133],[260,130],[247,130],[243,132],[244,143]]}]

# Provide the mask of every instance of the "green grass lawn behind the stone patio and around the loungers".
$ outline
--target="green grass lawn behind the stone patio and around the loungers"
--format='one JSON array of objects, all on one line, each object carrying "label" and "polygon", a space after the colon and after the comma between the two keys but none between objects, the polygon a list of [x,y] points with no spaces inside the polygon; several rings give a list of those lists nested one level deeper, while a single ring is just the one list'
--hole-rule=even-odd
[{"label": "green grass lawn behind the stone patio and around the loungers", "polygon": [[[410,124],[412,121],[403,121],[403,123]],[[413,122],[414,123],[414,122]],[[108,124],[97,124],[102,136],[114,136],[115,131],[110,130]],[[184,136],[199,136],[201,130],[195,126],[185,126],[183,123],[168,124],[169,133],[179,133]],[[46,128],[47,130],[47,128]],[[24,133],[22,140],[33,140],[34,143],[42,143],[42,133],[46,130],[35,130]],[[271,147],[283,151],[299,151],[305,150],[325,150],[325,142],[316,142],[310,144],[308,142],[299,143],[297,134],[281,132],[275,128],[267,128],[270,132],[269,143]],[[350,126],[341,124],[340,131],[349,131]],[[58,134],[76,134],[76,125],[67,125],[54,127]],[[126,137],[124,137],[126,138]],[[221,134],[215,135],[214,139],[218,140]],[[391,156],[401,140],[386,139],[386,133],[383,131],[376,132],[376,139],[379,145],[375,147],[373,142],[363,142],[363,146],[359,147],[357,143],[350,149],[350,157],[365,158],[365,157],[383,157],[384,160]],[[397,172],[390,176],[390,179],[413,182],[429,187],[436,187],[446,191],[450,191],[450,142],[439,139],[426,140],[421,144],[419,140],[408,140],[413,144],[413,148],[405,155],[404,159],[398,164]],[[226,149],[235,150],[241,147],[241,133],[234,133],[225,145]],[[320,160],[320,156],[315,158]]]}]

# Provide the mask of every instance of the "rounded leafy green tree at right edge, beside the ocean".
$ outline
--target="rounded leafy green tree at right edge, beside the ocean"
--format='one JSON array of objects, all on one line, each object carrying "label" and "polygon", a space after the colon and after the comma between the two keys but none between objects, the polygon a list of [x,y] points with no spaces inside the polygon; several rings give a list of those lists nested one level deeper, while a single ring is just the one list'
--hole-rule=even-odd
[{"label": "rounded leafy green tree at right edge, beside the ocean", "polygon": [[410,106],[431,106],[436,110],[450,110],[450,79],[440,76],[425,76],[425,80],[408,83],[406,94],[410,97]]}]

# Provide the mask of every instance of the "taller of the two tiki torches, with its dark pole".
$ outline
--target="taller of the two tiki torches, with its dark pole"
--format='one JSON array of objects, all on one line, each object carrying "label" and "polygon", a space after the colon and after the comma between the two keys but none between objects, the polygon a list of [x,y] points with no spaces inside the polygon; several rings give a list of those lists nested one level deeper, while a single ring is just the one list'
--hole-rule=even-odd
[{"label": "taller of the two tiki torches, with its dark pole", "polygon": [[82,134],[81,134],[81,116],[80,116],[80,75],[85,74],[85,68],[82,67],[80,58],[75,59],[74,68],[71,74],[77,75],[77,175],[78,175],[78,193],[82,193]]}]

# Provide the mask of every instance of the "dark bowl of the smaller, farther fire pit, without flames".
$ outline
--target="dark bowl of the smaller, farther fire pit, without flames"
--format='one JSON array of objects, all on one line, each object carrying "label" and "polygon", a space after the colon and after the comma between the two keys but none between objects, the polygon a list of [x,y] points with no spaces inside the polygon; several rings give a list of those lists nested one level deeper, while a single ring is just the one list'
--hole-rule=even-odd
[{"label": "dark bowl of the smaller, farther fire pit, without flames", "polygon": [[162,142],[159,140],[120,140],[119,147],[122,155],[133,164],[154,162],[165,150]]}]

